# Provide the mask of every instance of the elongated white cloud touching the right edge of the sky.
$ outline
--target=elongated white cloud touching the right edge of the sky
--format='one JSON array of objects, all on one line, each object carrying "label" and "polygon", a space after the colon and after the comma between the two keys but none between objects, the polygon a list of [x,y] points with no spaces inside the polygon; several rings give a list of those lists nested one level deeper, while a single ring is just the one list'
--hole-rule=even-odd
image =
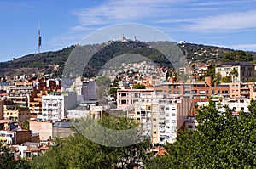
[{"label": "elongated white cloud touching the right edge of the sky", "polygon": [[201,18],[189,25],[195,31],[229,31],[256,27],[256,11],[220,14]]}]

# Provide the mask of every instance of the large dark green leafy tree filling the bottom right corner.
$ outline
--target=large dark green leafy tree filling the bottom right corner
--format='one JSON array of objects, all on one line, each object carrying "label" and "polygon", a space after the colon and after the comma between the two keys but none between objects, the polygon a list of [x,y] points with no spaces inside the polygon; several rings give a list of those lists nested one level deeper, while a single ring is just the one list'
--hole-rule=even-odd
[{"label": "large dark green leafy tree filling the bottom right corner", "polygon": [[217,104],[198,110],[195,132],[178,132],[177,141],[167,144],[168,155],[158,157],[162,168],[255,168],[256,167],[256,101],[239,115]]}]

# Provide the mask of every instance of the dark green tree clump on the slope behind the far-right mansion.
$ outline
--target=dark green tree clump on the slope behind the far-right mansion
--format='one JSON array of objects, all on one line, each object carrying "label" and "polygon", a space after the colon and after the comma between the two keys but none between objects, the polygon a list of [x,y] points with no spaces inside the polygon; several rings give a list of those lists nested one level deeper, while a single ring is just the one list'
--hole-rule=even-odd
[{"label": "dark green tree clump on the slope behind the far-right mansion", "polygon": [[236,50],[229,53],[225,53],[223,61],[253,61],[252,54],[246,54],[245,51]]}]

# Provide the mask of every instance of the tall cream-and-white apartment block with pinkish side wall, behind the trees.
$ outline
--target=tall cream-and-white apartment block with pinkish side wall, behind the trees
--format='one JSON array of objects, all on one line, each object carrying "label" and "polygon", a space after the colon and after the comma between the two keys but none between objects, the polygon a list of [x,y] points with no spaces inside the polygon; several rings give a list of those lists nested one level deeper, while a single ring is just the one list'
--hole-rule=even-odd
[{"label": "tall cream-and-white apartment block with pinkish side wall, behind the trees", "polygon": [[152,144],[173,143],[189,115],[190,101],[177,94],[154,94],[135,102],[134,114],[129,116],[139,122],[141,134],[151,138]]}]

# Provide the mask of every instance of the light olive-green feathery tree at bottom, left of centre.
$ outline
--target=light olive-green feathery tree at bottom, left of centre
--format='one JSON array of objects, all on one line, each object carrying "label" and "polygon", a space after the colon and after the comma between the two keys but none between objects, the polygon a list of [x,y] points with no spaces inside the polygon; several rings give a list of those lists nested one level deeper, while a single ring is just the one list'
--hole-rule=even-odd
[{"label": "light olive-green feathery tree at bottom, left of centre", "polygon": [[[84,122],[82,122],[84,124]],[[124,130],[136,127],[137,124],[129,119],[122,117],[106,116],[102,121],[98,121],[104,127],[115,130]],[[86,125],[85,125],[86,126]],[[104,134],[101,131],[87,130],[84,132],[94,132],[98,135]],[[95,128],[95,127],[92,127]],[[77,127],[76,127],[77,129]],[[92,136],[94,136],[92,135]],[[108,135],[106,135],[108,142]],[[117,141],[119,138],[116,138]],[[111,147],[96,144],[84,137],[81,132],[68,138],[58,138],[44,155],[35,157],[31,163],[32,168],[133,168],[143,167],[142,163],[148,161],[148,139],[141,143],[126,147]]]}]

